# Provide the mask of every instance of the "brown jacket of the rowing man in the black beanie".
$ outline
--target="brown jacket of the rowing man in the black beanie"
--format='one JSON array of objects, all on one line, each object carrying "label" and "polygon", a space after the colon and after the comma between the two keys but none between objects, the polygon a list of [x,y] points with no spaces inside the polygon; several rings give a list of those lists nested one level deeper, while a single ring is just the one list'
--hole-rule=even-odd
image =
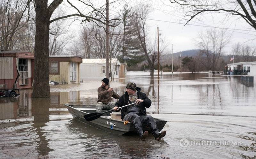
[{"label": "brown jacket of the rowing man in the black beanie", "polygon": [[[109,86],[108,86],[109,89]],[[103,87],[98,88],[98,101],[102,102],[103,104],[108,104],[108,102],[111,102],[111,97],[119,99],[120,95],[116,94],[114,91],[108,92],[108,89],[105,89]]]}]

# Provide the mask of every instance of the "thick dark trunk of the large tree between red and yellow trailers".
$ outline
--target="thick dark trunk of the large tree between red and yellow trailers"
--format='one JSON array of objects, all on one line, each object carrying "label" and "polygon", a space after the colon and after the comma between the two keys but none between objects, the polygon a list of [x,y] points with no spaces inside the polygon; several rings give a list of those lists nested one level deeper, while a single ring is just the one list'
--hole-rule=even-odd
[{"label": "thick dark trunk of the large tree between red and yellow trailers", "polygon": [[35,69],[33,98],[49,98],[49,29],[47,1],[36,1]]}]

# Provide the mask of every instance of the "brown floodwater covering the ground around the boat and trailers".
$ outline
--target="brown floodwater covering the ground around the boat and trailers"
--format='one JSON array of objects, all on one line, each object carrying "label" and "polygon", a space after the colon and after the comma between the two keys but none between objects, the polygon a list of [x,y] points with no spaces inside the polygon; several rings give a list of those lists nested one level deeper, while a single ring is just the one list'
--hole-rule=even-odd
[{"label": "brown floodwater covering the ground around the boat and trailers", "polygon": [[149,135],[141,141],[72,120],[63,104],[95,104],[100,80],[51,86],[50,99],[33,99],[32,90],[0,98],[0,158],[256,158],[255,82],[127,72],[110,86],[123,94],[125,84],[135,82],[152,100],[148,113],[168,121],[163,140]]}]

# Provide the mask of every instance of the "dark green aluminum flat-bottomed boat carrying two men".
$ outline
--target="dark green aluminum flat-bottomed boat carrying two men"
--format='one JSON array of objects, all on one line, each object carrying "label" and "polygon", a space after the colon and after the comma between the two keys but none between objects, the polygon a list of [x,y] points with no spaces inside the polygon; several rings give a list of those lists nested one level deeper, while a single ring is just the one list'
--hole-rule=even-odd
[{"label": "dark green aluminum flat-bottomed boat carrying two men", "polygon": [[[108,133],[114,133],[118,135],[129,135],[136,133],[134,126],[131,122],[124,125],[124,121],[120,118],[120,112],[113,112],[111,115],[106,113],[105,116],[101,116],[92,121],[86,121],[84,115],[96,112],[96,105],[72,105],[66,103],[65,106],[68,111],[74,117],[74,119],[79,120],[85,124],[96,127],[100,130],[106,131]],[[103,110],[104,111],[104,110]],[[119,118],[118,118],[119,115]],[[164,128],[167,121],[154,118],[159,132]],[[148,125],[143,126],[143,131],[148,131],[151,133]]]}]

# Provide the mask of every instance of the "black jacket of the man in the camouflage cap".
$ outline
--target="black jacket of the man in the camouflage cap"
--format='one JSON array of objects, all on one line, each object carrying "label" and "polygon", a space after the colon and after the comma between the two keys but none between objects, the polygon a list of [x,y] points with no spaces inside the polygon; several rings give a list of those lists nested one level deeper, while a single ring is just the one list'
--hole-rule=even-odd
[{"label": "black jacket of the man in the camouflage cap", "polygon": [[[140,103],[140,113],[146,115],[147,111],[146,108],[149,108],[151,105],[151,100],[148,99],[147,95],[143,92],[140,92],[140,88],[136,87],[137,89],[137,96],[138,99],[142,99],[144,102]],[[119,100],[116,102],[116,107],[122,107],[124,105],[128,105],[128,100],[129,100],[129,95],[127,92],[124,93],[124,95],[122,95]],[[122,120],[124,120],[124,116],[125,114],[127,114],[127,107],[124,107],[121,109],[121,118]]]}]

